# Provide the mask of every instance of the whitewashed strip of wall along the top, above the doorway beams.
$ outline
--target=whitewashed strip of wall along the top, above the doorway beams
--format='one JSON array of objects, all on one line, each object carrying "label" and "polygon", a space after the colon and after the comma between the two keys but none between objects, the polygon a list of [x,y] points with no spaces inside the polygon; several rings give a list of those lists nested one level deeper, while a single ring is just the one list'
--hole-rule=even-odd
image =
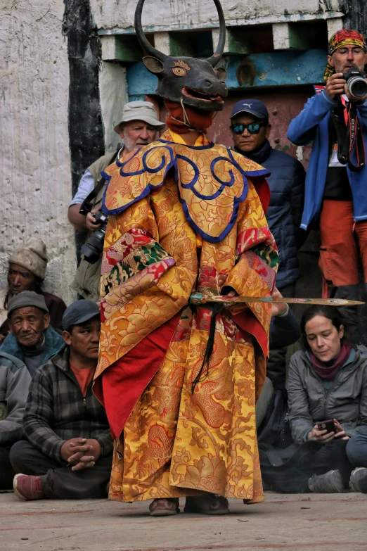
[{"label": "whitewashed strip of wall along the top, above the doorway beams", "polygon": [[[137,0],[91,0],[96,24],[103,29],[133,27],[136,4]],[[221,4],[231,25],[339,10],[337,0],[222,0]],[[146,0],[143,8],[143,25],[147,26],[195,27],[215,23],[217,14],[212,0]]]}]

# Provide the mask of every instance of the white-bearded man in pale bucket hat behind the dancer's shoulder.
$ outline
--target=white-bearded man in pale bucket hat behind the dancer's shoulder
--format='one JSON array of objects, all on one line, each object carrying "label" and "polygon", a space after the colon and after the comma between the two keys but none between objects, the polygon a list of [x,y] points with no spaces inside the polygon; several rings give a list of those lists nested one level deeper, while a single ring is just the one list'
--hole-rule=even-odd
[{"label": "white-bearded man in pale bucket hat behind the dancer's shoulder", "polygon": [[[150,103],[150,101],[130,101],[126,103],[122,109],[122,118],[118,125],[114,127],[115,132],[120,134],[123,140],[122,148],[113,154],[103,155],[86,169],[79,182],[77,193],[69,205],[68,218],[76,229],[88,230],[87,241],[91,234],[101,226],[101,224],[96,223],[92,215],[92,213],[96,213],[101,209],[105,192],[103,182],[107,184],[101,176],[101,172],[105,170],[105,167],[112,164],[116,158],[121,161],[127,160],[136,149],[150,144],[155,140],[157,130],[164,126],[165,122],[158,120],[153,103]],[[98,186],[98,184],[102,185]],[[98,192],[97,186],[101,188],[98,189]],[[96,196],[91,201],[91,212],[86,215],[80,214],[79,210],[82,203],[94,189],[96,189]],[[72,283],[72,289],[75,289],[84,298],[96,301],[99,298],[100,276],[101,262],[90,264],[82,258],[75,280]]]}]

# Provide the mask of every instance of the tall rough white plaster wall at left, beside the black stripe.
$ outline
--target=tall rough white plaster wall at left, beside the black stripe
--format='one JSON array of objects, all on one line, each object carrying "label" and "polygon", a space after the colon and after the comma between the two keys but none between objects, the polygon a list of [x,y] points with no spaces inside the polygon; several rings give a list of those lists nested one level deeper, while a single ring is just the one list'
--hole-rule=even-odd
[{"label": "tall rough white plaster wall at left, beside the black stripe", "polygon": [[44,289],[70,303],[75,246],[63,0],[0,0],[0,284],[7,259],[31,236],[44,240]]}]

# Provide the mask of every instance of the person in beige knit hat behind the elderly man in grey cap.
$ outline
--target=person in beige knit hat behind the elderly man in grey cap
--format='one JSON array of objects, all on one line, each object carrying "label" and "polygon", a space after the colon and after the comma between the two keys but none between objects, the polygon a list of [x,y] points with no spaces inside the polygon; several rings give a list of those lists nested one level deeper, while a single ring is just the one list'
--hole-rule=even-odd
[{"label": "person in beige knit hat behind the elderly man in grey cap", "polygon": [[61,329],[61,319],[66,305],[62,298],[42,291],[46,276],[46,245],[41,239],[31,238],[8,259],[8,286],[0,291],[0,343],[8,334],[8,303],[22,291],[35,291],[44,297],[50,314],[51,326]]}]

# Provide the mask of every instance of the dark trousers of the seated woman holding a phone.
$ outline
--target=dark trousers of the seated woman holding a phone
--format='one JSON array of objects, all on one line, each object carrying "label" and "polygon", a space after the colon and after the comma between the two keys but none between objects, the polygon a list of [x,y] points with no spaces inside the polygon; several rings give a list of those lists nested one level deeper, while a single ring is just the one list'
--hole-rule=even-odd
[{"label": "dark trousers of the seated woman holding a phone", "polygon": [[277,467],[271,464],[272,455],[276,455],[273,450],[269,452],[269,449],[264,450],[260,446],[264,487],[280,493],[306,493],[310,491],[308,481],[313,474],[339,469],[345,488],[349,488],[349,478],[354,467],[347,457],[347,443],[346,440],[332,440],[325,444],[304,442],[299,448],[294,445],[291,457]]}]

